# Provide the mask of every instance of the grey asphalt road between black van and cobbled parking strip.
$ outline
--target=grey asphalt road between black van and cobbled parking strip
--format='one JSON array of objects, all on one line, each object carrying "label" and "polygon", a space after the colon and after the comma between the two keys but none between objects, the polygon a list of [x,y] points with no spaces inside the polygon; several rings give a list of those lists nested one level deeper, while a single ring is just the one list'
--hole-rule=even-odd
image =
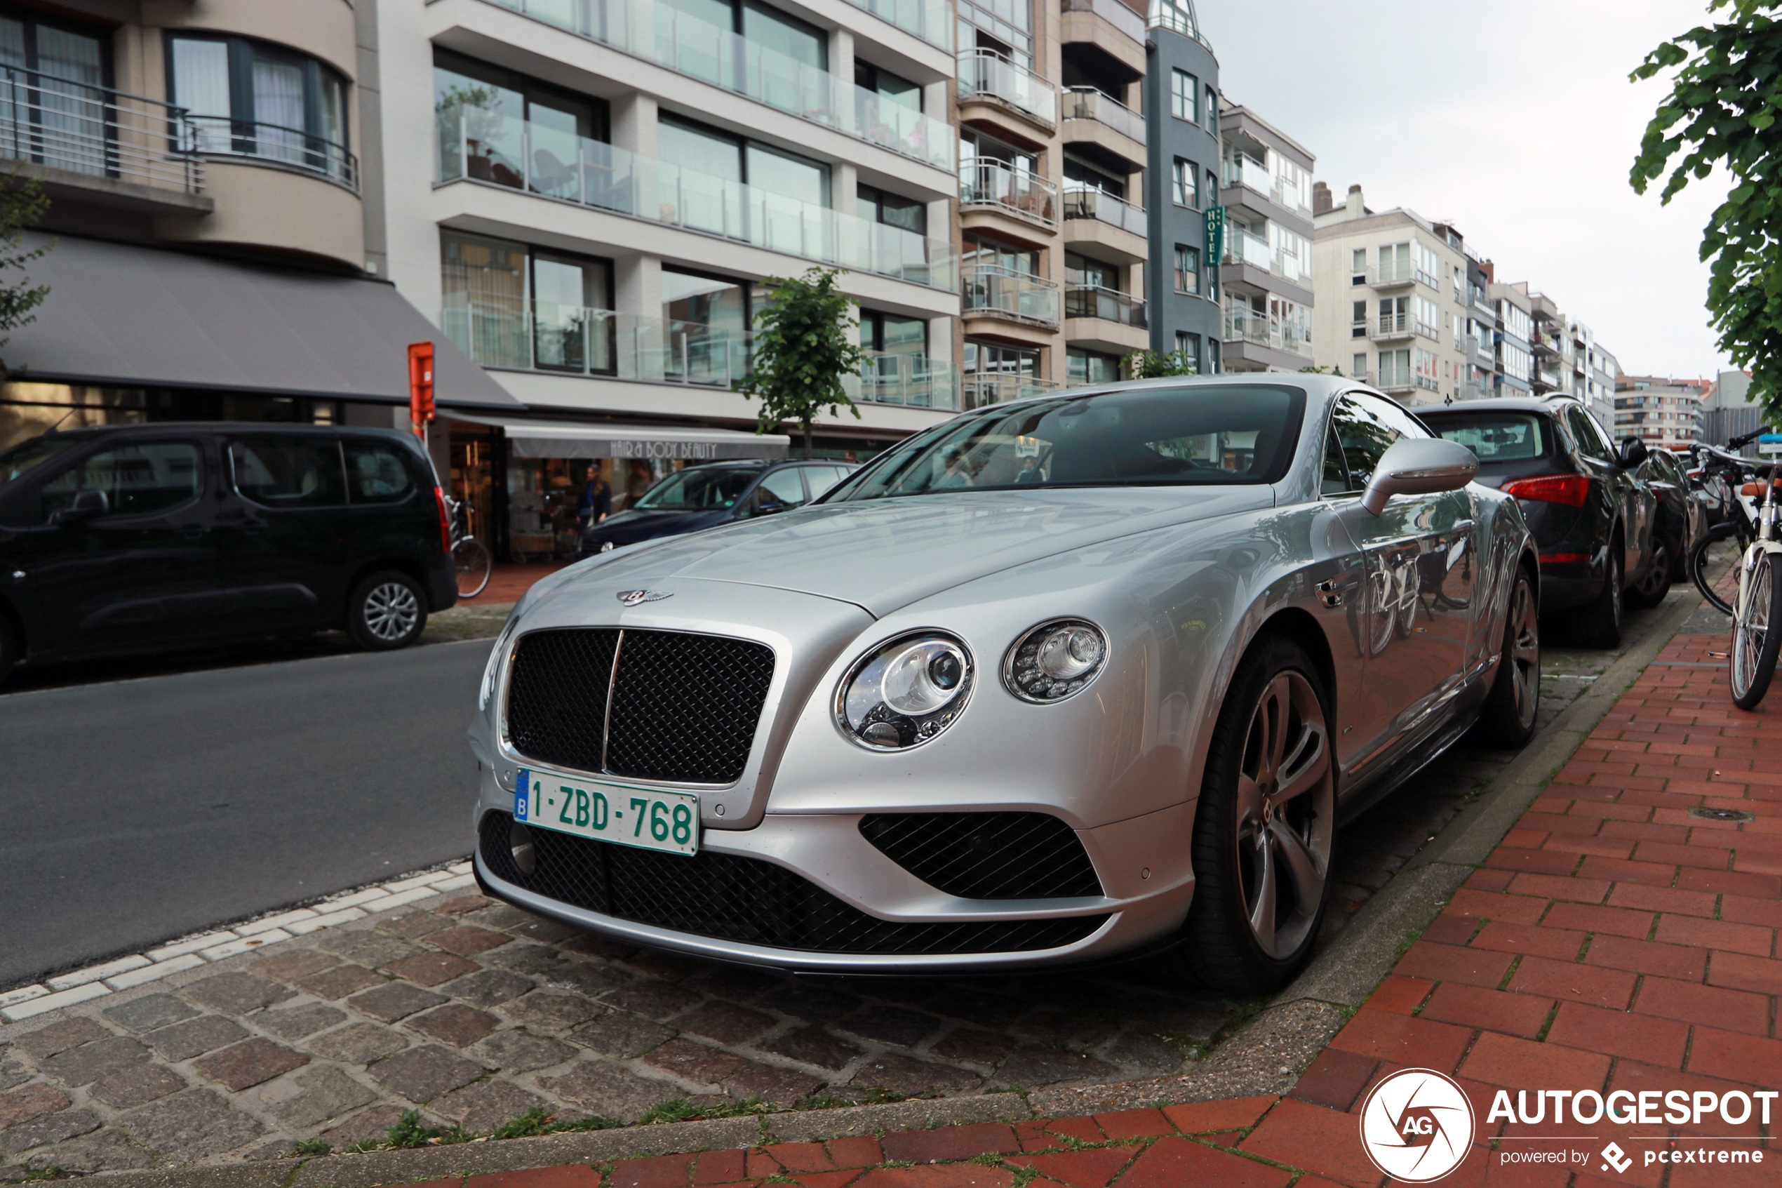
[{"label": "grey asphalt road between black van and cobbled parking strip", "polygon": [[486,639],[0,696],[0,987],[470,851]]}]

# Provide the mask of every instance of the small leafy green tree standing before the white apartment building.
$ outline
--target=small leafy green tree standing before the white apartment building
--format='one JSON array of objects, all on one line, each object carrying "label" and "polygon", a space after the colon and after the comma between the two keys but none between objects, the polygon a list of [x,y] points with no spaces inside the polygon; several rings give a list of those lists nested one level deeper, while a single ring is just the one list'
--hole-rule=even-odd
[{"label": "small leafy green tree standing before the white apartment building", "polygon": [[836,289],[838,269],[809,269],[804,276],[770,276],[768,308],[756,315],[750,372],[736,383],[745,397],[761,401],[756,433],[795,422],[811,456],[811,422],[818,413],[861,410],[843,388],[843,376],[859,376],[870,362],[852,338],[848,310],[854,297]]}]

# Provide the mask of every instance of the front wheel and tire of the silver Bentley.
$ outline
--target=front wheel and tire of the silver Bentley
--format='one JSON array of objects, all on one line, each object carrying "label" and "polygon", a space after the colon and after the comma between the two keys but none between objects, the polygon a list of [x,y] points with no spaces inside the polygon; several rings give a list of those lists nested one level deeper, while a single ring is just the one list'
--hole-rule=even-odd
[{"label": "front wheel and tire of the silver Bentley", "polygon": [[1312,958],[1336,823],[1328,702],[1306,654],[1263,636],[1219,707],[1194,816],[1194,905],[1176,962],[1226,994],[1276,990]]}]

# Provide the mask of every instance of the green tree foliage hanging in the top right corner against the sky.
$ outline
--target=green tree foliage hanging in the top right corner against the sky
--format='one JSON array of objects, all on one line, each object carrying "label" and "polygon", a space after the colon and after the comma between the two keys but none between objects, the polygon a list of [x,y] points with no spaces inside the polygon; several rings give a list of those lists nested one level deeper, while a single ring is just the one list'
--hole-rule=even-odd
[{"label": "green tree foliage hanging in the top right corner against the sky", "polygon": [[1670,171],[1659,194],[1670,203],[1714,166],[1732,175],[1702,230],[1709,324],[1734,365],[1750,369],[1770,424],[1782,426],[1782,23],[1757,0],[1709,0],[1707,11],[1713,23],[1652,50],[1631,75],[1677,71],[1631,180],[1645,194]]}]

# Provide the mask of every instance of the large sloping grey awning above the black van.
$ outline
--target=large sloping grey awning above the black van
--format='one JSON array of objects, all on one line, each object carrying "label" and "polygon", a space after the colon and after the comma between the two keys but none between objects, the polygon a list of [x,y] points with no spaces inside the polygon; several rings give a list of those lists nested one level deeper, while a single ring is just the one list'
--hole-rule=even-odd
[{"label": "large sloping grey awning above the black van", "polygon": [[25,273],[50,296],[5,346],[20,379],[406,404],[408,344],[429,340],[437,403],[520,404],[381,281],[71,235]]}]

